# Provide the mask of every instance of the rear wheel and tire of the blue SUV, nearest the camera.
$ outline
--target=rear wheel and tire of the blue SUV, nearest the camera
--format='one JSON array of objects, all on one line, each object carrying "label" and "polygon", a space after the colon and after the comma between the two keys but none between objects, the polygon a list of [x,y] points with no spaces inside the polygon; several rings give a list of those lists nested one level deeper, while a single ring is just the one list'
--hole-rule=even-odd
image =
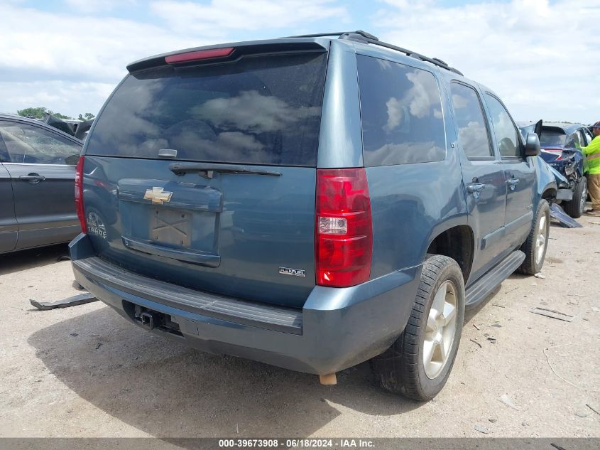
[{"label": "rear wheel and tire of the blue SUV, nearest the camera", "polygon": [[[435,297],[438,292],[438,301]],[[442,299],[442,302],[440,302]],[[454,301],[454,315],[444,316]],[[437,308],[432,308],[437,303]],[[440,308],[443,304],[443,308]],[[441,315],[440,315],[441,314]],[[432,316],[430,318],[430,315]],[[437,321],[433,318],[437,316]],[[449,322],[454,317],[454,327]],[[429,320],[428,320],[429,319]],[[427,322],[430,327],[427,327]],[[454,259],[431,255],[425,260],[418,286],[415,304],[403,333],[388,350],[371,360],[371,369],[383,388],[414,400],[431,400],[437,395],[452,370],[456,358],[462,323],[464,321],[464,280],[462,271]],[[442,333],[442,331],[444,331]],[[435,344],[442,337],[445,358],[440,346]],[[448,343],[450,341],[450,343]],[[432,349],[430,363],[425,364],[426,347]],[[437,361],[433,361],[433,359]]]}]

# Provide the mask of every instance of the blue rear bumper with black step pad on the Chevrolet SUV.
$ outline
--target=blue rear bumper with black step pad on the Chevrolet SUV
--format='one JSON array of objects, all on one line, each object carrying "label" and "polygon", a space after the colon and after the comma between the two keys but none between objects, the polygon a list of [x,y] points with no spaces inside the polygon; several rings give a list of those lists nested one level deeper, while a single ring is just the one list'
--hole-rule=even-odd
[{"label": "blue rear bumper with black step pad on the Chevrolet SUV", "polygon": [[302,310],[266,306],[141,277],[96,257],[86,235],[70,244],[75,279],[128,321],[128,306],[170,316],[180,335],[152,330],[210,353],[326,374],[382,353],[403,331],[421,267],[350,288],[315,286]]}]

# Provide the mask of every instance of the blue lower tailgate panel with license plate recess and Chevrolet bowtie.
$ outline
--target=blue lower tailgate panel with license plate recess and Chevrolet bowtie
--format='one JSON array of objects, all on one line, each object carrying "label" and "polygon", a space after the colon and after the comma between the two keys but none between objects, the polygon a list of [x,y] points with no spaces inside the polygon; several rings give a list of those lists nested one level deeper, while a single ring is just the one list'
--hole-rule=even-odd
[{"label": "blue lower tailgate panel with license plate recess and Chevrolet bowtie", "polygon": [[[103,224],[89,230],[97,254],[181,286],[302,306],[315,286],[315,168],[270,168],[280,176],[215,172],[207,179],[177,176],[169,164],[86,156],[84,173],[93,167],[95,178],[84,177],[84,207]],[[170,200],[144,200],[156,188]],[[305,276],[280,274],[280,267]]]}]

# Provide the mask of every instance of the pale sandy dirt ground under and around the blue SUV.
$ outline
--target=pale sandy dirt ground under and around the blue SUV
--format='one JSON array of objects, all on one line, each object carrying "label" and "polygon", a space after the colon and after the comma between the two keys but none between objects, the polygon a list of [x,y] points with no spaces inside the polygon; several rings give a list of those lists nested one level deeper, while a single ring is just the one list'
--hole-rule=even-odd
[{"label": "pale sandy dirt ground under and around the blue SUV", "polygon": [[380,390],[368,364],[322,387],[165,341],[100,302],[35,311],[29,299],[77,294],[66,247],[5,255],[0,436],[600,436],[600,221],[581,222],[551,228],[545,279],[513,275],[467,312],[452,375],[422,404]]}]

